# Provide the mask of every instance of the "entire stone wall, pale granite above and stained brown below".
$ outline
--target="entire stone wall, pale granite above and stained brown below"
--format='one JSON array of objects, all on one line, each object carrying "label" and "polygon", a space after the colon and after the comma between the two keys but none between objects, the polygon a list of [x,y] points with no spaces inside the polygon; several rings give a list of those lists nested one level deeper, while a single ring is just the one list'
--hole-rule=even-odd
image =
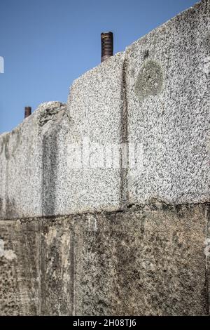
[{"label": "entire stone wall, pale granite above and stained brown below", "polygon": [[203,0],[0,136],[1,315],[209,315],[209,74]]}]

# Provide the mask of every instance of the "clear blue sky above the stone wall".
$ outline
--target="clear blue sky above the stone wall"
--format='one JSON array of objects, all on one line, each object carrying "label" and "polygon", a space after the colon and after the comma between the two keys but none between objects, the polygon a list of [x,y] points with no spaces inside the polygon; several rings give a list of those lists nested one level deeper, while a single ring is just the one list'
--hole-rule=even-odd
[{"label": "clear blue sky above the stone wall", "polygon": [[196,0],[1,0],[0,133],[24,107],[66,102],[69,86],[101,60],[101,32],[114,53],[193,6]]}]

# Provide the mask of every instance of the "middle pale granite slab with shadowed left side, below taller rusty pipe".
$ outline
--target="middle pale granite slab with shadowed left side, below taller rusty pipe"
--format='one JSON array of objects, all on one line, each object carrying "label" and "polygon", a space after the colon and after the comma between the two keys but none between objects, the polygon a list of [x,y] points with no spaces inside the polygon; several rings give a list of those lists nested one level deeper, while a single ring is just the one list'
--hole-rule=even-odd
[{"label": "middle pale granite slab with shadowed left side, below taller rusty pipe", "polygon": [[43,216],[122,207],[121,155],[113,168],[104,150],[107,145],[120,150],[123,63],[124,55],[117,54],[76,79],[65,117],[42,133]]}]

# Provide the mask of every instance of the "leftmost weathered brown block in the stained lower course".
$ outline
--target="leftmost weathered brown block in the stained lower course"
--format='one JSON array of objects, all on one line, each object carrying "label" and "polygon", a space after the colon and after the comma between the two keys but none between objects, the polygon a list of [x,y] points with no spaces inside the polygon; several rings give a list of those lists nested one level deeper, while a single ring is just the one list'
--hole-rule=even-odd
[{"label": "leftmost weathered brown block in the stained lower course", "polygon": [[38,315],[37,221],[0,221],[0,315]]}]

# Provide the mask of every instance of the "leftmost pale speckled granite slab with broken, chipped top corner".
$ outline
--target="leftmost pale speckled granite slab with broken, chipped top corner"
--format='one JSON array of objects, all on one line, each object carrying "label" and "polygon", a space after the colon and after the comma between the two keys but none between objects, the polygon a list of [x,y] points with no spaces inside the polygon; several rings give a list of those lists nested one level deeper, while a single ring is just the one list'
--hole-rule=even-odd
[{"label": "leftmost pale speckled granite slab with broken, chipped top corner", "polygon": [[[42,216],[51,211],[53,214],[56,133],[52,134],[52,128],[55,130],[56,120],[59,131],[60,118],[65,126],[69,120],[65,109],[62,103],[43,103],[11,133],[0,136],[0,218]],[[48,173],[52,178],[48,178]]]}]

